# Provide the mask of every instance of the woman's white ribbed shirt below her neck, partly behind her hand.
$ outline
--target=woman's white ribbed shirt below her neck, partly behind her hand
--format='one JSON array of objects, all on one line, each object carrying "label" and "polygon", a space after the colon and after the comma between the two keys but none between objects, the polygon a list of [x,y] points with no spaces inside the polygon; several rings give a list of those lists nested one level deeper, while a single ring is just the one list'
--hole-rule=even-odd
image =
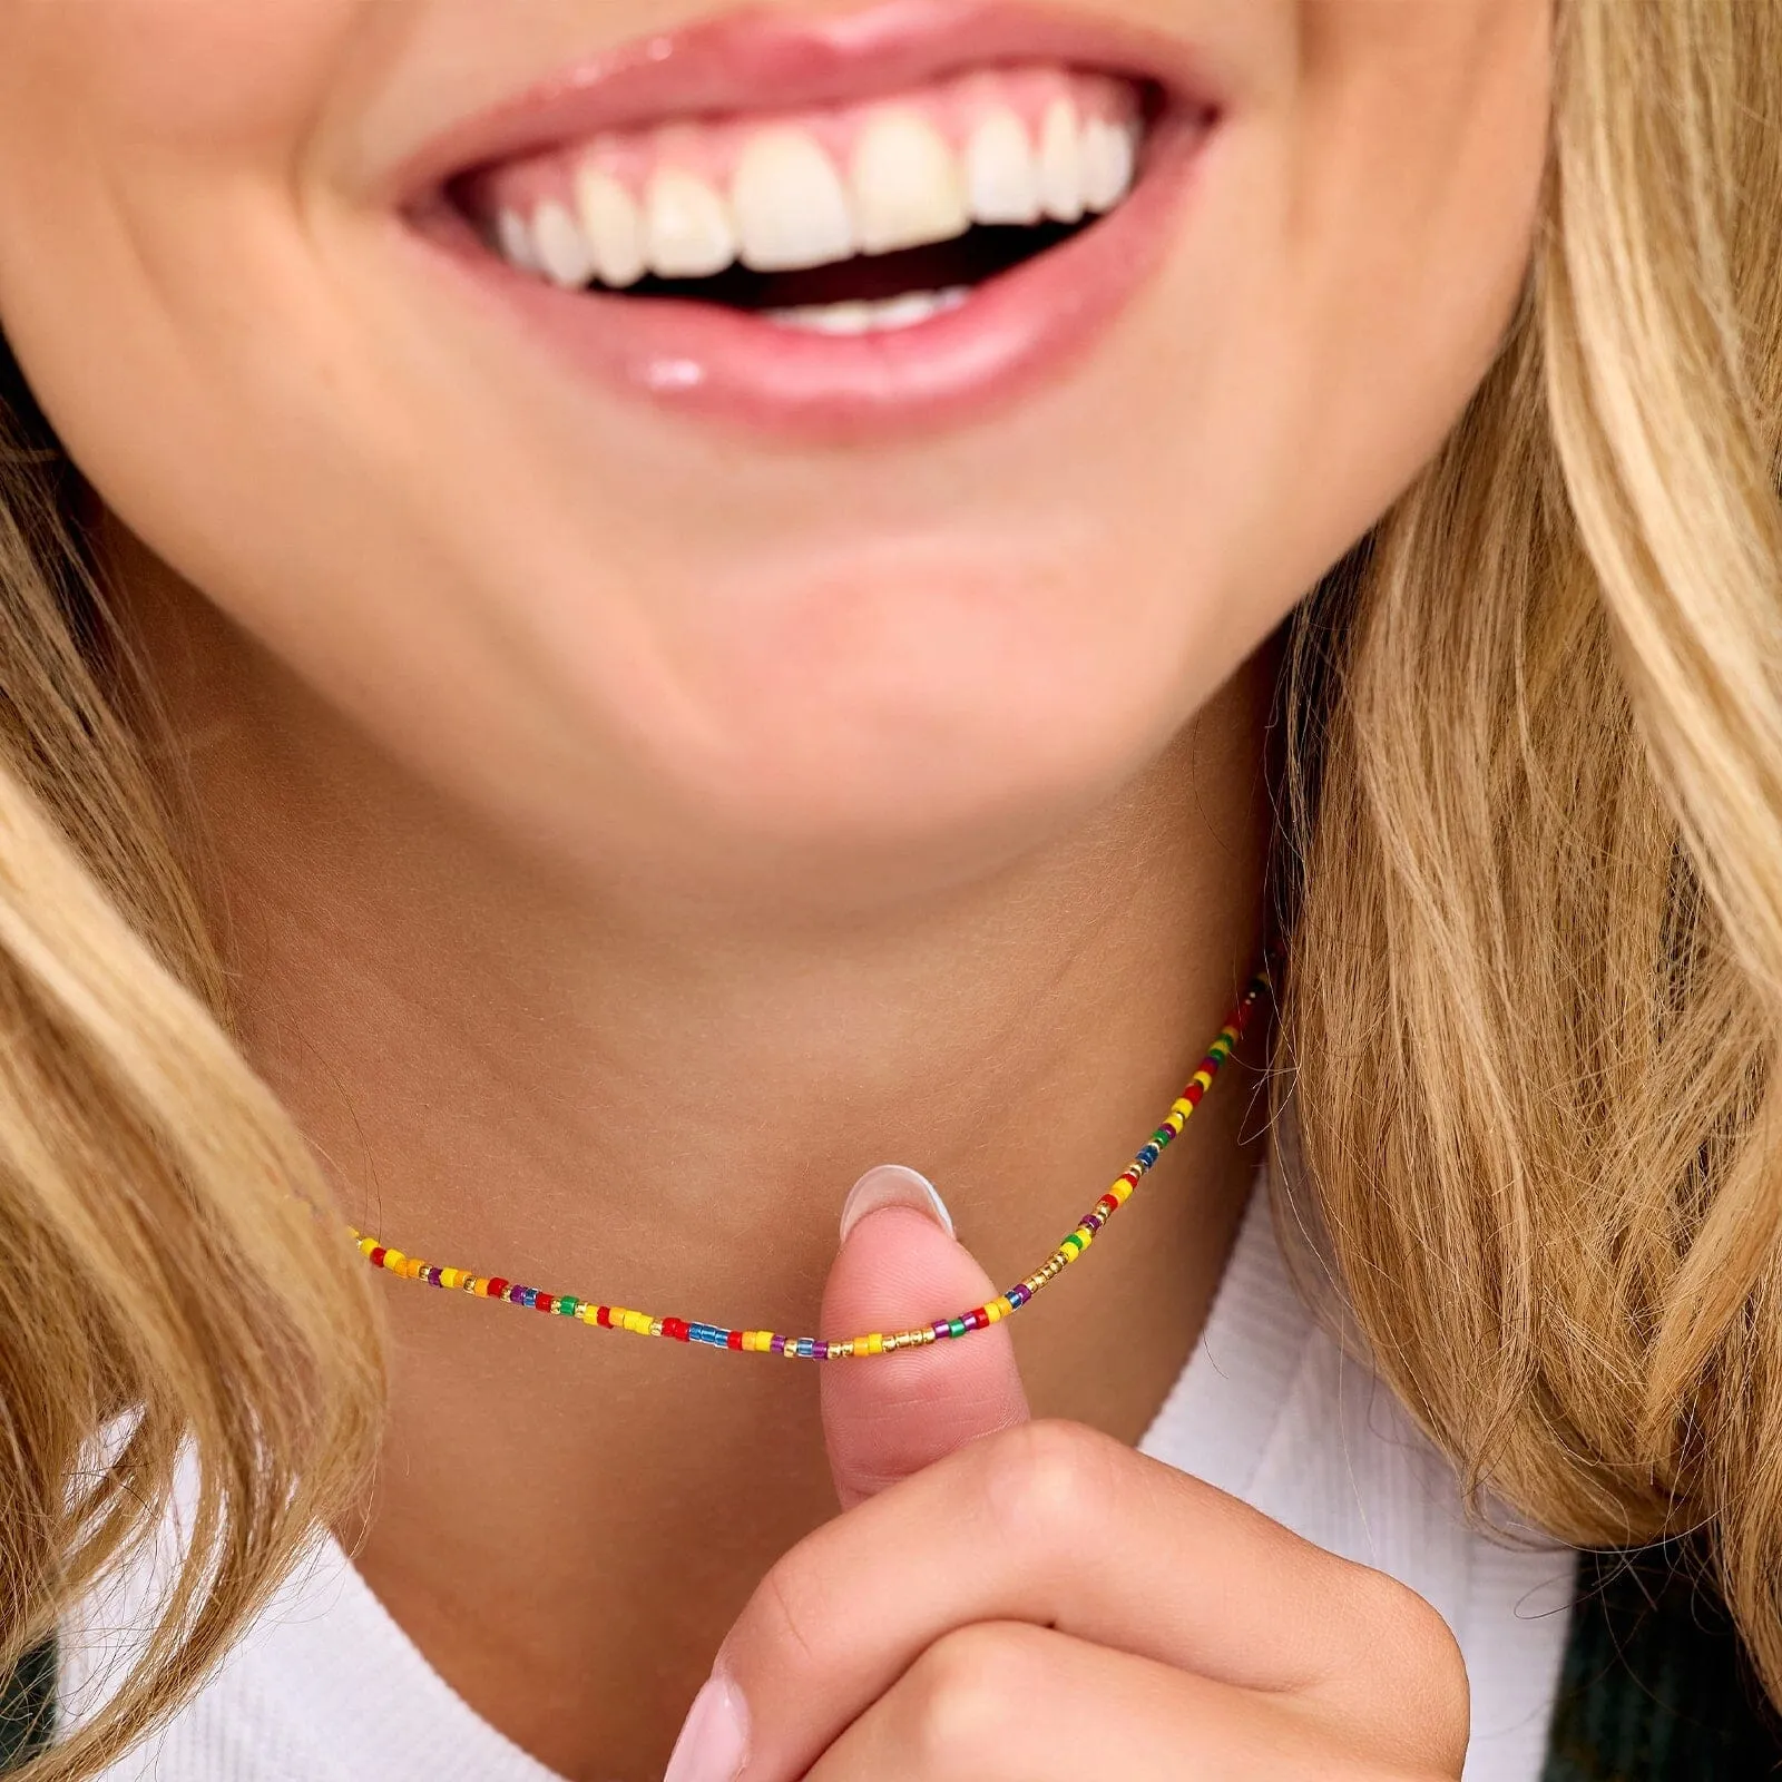
[{"label": "woman's white ribbed shirt below her neck, partly behind her hand", "polygon": [[[1574,1556],[1468,1525],[1447,1465],[1296,1294],[1263,1194],[1140,1447],[1433,1604],[1472,1680],[1467,1782],[1538,1782]],[[68,1629],[64,1713],[103,1693],[151,1590],[151,1575],[123,1579]],[[217,1675],[105,1782],[560,1778],[451,1689],[328,1540]]]}]

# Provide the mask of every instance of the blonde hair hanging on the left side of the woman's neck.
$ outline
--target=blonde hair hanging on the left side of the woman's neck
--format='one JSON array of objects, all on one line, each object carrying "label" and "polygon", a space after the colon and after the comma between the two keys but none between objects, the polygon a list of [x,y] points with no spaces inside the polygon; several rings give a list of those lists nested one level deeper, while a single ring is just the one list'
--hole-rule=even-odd
[{"label": "blonde hair hanging on the left side of the woman's neck", "polygon": [[376,1328],[301,1137],[228,1037],[155,732],[73,524],[0,405],[0,1677],[155,1538],[189,1547],[141,1655],[34,1778],[89,1777],[351,1509]]}]

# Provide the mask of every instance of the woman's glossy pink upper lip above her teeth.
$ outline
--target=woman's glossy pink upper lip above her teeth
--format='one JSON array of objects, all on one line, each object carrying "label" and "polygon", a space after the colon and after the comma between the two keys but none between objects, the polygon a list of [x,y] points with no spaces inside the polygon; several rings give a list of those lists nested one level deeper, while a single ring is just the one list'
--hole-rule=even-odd
[{"label": "woman's glossy pink upper lip above her teeth", "polygon": [[397,171],[396,184],[413,201],[476,168],[601,130],[868,100],[993,62],[1098,68],[1148,82],[1169,102],[1221,109],[1215,75],[1192,46],[1055,7],[882,0],[814,16],[745,11],[574,62],[451,125]]}]

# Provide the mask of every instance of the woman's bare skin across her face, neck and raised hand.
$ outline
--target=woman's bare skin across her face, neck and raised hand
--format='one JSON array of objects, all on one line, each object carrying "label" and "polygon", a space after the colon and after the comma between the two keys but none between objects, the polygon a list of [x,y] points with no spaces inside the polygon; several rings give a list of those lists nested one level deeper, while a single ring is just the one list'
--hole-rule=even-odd
[{"label": "woman's bare skin across her face, neck and raised hand", "polygon": [[[1269,638],[1490,364],[1547,0],[1087,4],[1230,77],[1158,276],[1018,408],[768,447],[567,376],[388,203],[447,123],[711,0],[0,0],[0,323],[355,1222],[782,1328],[836,1263],[830,1312],[918,1315],[977,1265],[907,1214],[838,1263],[855,1174],[928,1173],[1012,1279],[1217,1026]],[[902,1420],[832,1386],[829,1447],[807,1370],[388,1283],[365,1575],[565,1777],[659,1773],[725,1627],[750,1782],[1003,1775],[1066,1695],[1021,1775],[1458,1775],[1424,1606],[1123,1445],[1246,1103]]]}]

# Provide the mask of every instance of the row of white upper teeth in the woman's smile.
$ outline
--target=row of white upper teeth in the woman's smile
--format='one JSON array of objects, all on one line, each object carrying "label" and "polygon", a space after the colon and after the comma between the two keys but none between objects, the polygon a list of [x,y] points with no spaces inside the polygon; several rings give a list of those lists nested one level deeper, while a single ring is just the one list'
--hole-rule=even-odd
[{"label": "row of white upper teeth in the woman's smile", "polygon": [[950,241],[973,223],[1110,210],[1132,187],[1137,139],[1135,121],[1083,119],[1055,98],[1037,143],[1009,107],[985,110],[962,146],[920,110],[886,107],[864,121],[846,168],[816,134],[772,127],[743,146],[727,189],[670,162],[634,192],[595,151],[563,198],[531,216],[504,207],[495,246],[565,287],[704,278],[736,262],[797,271]]}]

